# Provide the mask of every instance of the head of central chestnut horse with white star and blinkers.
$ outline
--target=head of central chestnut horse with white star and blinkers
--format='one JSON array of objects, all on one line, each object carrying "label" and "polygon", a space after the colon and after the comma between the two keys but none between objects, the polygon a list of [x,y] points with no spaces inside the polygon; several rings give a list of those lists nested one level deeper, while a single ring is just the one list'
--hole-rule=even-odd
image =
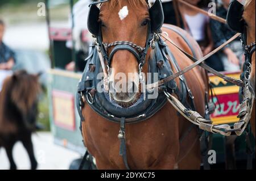
[{"label": "head of central chestnut horse with white star and blinkers", "polygon": [[92,5],[88,22],[90,32],[98,34],[97,40],[104,44],[109,57],[110,97],[129,107],[141,95],[140,81],[148,69],[150,40],[163,24],[161,2],[157,0],[149,8],[146,0],[102,1],[100,9]]}]

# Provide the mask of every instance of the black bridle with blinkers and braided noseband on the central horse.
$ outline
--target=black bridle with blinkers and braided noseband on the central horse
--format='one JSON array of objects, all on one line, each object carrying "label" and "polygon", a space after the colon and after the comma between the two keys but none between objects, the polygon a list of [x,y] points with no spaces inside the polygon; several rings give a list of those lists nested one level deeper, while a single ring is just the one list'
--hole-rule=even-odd
[{"label": "black bridle with blinkers and braided noseband on the central horse", "polygon": [[[96,7],[97,4],[105,3],[108,2],[109,0],[105,1],[98,1],[98,2],[93,2],[90,4],[90,11],[94,12],[89,12],[89,17],[88,17],[88,29],[89,31],[96,37],[97,39],[97,46],[100,48],[102,57],[104,57],[104,60],[107,63],[107,66],[110,68],[113,56],[118,50],[128,50],[131,52],[137,59],[138,64],[139,64],[139,69],[142,68],[142,66],[145,64],[145,59],[146,55],[148,53],[148,49],[154,48],[154,41],[158,38],[156,35],[157,33],[160,32],[160,28],[162,27],[163,24],[163,9],[161,2],[157,0],[155,4],[149,9],[150,11],[150,16],[151,18],[154,18],[154,21],[156,21],[155,16],[158,17],[158,22],[152,22],[148,21],[148,30],[147,30],[147,39],[146,39],[146,44],[145,47],[141,47],[133,42],[130,41],[115,41],[113,43],[104,43],[102,40],[102,31],[101,31],[101,23],[99,23],[97,26],[93,26],[93,23],[95,22],[96,19],[95,16],[98,16],[99,9]],[[97,12],[95,12],[97,11]],[[90,15],[92,14],[92,15]],[[114,47],[113,50],[108,54],[108,48]]]}]

